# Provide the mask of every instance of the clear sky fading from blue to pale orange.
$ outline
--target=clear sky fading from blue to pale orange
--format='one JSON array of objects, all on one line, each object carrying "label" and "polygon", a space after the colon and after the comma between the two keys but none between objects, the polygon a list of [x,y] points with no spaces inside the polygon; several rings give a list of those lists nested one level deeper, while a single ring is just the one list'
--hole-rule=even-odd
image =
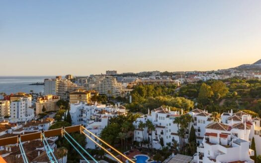
[{"label": "clear sky fading from blue to pale orange", "polygon": [[210,71],[261,59],[261,0],[0,0],[0,76]]}]

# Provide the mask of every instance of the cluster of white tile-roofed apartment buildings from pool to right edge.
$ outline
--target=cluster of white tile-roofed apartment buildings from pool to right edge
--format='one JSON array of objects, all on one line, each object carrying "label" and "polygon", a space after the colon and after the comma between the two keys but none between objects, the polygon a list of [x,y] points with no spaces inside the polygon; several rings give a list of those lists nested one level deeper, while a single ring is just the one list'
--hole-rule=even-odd
[{"label": "cluster of white tile-roofed apartment buildings from pool to right edge", "polygon": [[[162,148],[160,139],[163,139],[164,146],[173,140],[181,143],[177,136],[178,126],[173,121],[182,112],[160,107],[138,118],[133,123],[136,128],[134,140],[141,142],[143,139],[151,140],[152,137],[153,148],[156,149]],[[231,110],[223,113],[219,122],[214,122],[211,114],[205,110],[194,109],[188,114],[193,117],[194,122],[189,127],[193,125],[198,144],[194,163],[254,163],[250,158],[254,155],[254,151],[250,149],[253,138],[257,145],[257,155],[261,155],[261,146],[258,146],[261,144],[260,118],[242,111],[233,113]],[[143,132],[139,129],[139,123],[146,123],[147,120],[153,123],[155,131],[150,132],[147,127]],[[187,142],[188,133],[184,138]]]}]

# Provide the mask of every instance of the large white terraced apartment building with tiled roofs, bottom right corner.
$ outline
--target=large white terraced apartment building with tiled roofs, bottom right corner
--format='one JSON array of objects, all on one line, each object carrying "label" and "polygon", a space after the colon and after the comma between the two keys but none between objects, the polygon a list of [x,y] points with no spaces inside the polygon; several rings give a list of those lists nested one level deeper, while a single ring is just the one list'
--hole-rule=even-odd
[{"label": "large white terraced apartment building with tiled roofs, bottom right corner", "polygon": [[[220,122],[205,127],[194,163],[254,163],[250,145],[253,137],[256,144],[261,144],[260,120],[242,111],[222,113]],[[260,146],[256,146],[256,152],[261,155]]]}]

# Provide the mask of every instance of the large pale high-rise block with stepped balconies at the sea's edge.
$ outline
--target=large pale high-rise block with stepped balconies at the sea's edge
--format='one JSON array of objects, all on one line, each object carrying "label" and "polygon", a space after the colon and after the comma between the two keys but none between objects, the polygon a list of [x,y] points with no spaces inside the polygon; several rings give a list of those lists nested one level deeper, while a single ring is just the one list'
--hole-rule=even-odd
[{"label": "large pale high-rise block with stepped balconies at the sea's edge", "polygon": [[81,88],[67,79],[45,79],[44,80],[44,94],[58,95],[61,99],[69,99],[69,94]]}]

